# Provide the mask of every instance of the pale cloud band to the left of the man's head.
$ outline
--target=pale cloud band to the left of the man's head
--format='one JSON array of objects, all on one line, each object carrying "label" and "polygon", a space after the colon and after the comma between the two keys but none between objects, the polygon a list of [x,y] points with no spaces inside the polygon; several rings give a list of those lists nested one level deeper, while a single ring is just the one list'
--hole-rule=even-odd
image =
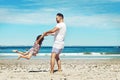
[{"label": "pale cloud band to the left of the man's head", "polygon": [[52,24],[55,20],[49,13],[35,11],[17,13],[10,9],[0,8],[0,23],[12,24]]}]

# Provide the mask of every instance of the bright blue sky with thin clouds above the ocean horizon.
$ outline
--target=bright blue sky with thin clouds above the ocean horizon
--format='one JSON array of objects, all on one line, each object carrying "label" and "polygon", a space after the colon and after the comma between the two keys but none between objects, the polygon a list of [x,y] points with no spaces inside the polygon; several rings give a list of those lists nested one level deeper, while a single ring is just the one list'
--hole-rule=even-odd
[{"label": "bright blue sky with thin clouds above the ocean horizon", "polygon": [[[120,45],[120,0],[0,0],[0,45],[32,45],[65,16],[65,46]],[[53,37],[44,46],[53,45]]]}]

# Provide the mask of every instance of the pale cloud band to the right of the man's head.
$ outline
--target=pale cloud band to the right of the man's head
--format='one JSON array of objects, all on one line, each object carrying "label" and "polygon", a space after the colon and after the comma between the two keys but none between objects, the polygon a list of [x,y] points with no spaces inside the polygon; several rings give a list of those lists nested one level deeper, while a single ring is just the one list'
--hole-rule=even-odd
[{"label": "pale cloud band to the right of the man's head", "polygon": [[120,26],[120,16],[112,14],[92,15],[92,16],[71,16],[66,18],[69,26],[77,27],[97,27],[111,28]]}]

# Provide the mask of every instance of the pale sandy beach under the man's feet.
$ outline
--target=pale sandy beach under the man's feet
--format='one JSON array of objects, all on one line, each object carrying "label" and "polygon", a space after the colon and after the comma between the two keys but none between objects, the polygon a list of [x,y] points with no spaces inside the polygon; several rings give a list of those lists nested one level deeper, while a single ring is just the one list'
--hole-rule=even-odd
[{"label": "pale sandy beach under the man's feet", "polygon": [[65,59],[49,73],[49,60],[0,60],[0,80],[120,80],[120,60]]}]

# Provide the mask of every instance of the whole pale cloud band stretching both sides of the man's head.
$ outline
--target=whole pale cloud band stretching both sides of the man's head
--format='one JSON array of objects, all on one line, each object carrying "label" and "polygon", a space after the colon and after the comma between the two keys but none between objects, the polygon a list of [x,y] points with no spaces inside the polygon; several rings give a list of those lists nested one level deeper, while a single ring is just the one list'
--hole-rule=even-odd
[{"label": "whole pale cloud band stretching both sides of the man's head", "polygon": [[[55,24],[56,9],[42,8],[29,13],[17,13],[15,9],[0,8],[0,23],[12,24]],[[46,13],[50,12],[50,13]],[[53,13],[52,13],[53,12]],[[55,12],[55,13],[54,13]],[[65,16],[65,22],[71,27],[97,27],[111,28],[119,27],[120,15],[94,14],[94,15],[72,15]]]}]

